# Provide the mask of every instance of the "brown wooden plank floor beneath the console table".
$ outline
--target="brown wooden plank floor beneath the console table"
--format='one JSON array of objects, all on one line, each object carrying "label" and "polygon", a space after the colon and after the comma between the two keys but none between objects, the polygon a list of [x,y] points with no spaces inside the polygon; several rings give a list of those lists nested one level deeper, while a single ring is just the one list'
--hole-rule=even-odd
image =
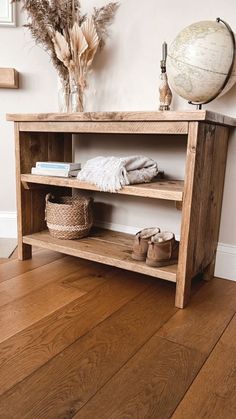
[{"label": "brown wooden plank floor beneath the console table", "polygon": [[0,261],[1,419],[236,418],[236,282],[36,250]]}]

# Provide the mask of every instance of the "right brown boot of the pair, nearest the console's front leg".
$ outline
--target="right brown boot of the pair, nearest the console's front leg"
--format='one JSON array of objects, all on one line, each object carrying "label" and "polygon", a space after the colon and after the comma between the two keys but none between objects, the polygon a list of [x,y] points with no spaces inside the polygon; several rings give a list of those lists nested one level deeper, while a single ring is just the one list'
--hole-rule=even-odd
[{"label": "right brown boot of the pair, nearest the console's front leg", "polygon": [[169,231],[158,233],[148,243],[146,264],[149,266],[168,266],[178,263],[179,242]]}]

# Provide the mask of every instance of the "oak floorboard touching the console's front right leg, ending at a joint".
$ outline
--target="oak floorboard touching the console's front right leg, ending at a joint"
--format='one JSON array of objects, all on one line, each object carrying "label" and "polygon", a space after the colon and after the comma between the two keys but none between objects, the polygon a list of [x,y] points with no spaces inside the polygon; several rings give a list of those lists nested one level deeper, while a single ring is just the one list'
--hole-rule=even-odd
[{"label": "oak floorboard touching the console's front right leg, ending at a joint", "polygon": [[236,311],[236,283],[205,282],[184,310],[158,331],[159,336],[209,354]]}]

